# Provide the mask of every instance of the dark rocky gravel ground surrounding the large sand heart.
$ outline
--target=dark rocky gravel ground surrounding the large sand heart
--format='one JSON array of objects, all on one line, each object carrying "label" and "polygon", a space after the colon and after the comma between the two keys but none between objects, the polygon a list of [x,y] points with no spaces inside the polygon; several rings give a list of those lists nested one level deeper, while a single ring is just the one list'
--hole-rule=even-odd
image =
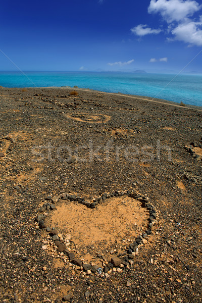
[{"label": "dark rocky gravel ground surrounding the large sand heart", "polygon": [[[1,302],[201,302],[201,109],[75,89],[0,88]],[[158,214],[134,259],[101,273],[48,253],[62,200],[119,191]]]}]

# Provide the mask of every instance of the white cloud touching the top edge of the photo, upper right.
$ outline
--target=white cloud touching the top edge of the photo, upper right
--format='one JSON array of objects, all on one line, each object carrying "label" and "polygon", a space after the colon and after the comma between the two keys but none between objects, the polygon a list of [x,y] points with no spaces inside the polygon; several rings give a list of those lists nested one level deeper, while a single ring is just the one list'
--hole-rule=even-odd
[{"label": "white cloud touching the top edge of the photo, upper right", "polygon": [[148,13],[160,13],[168,23],[171,23],[192,16],[201,7],[196,1],[192,0],[151,0]]}]

